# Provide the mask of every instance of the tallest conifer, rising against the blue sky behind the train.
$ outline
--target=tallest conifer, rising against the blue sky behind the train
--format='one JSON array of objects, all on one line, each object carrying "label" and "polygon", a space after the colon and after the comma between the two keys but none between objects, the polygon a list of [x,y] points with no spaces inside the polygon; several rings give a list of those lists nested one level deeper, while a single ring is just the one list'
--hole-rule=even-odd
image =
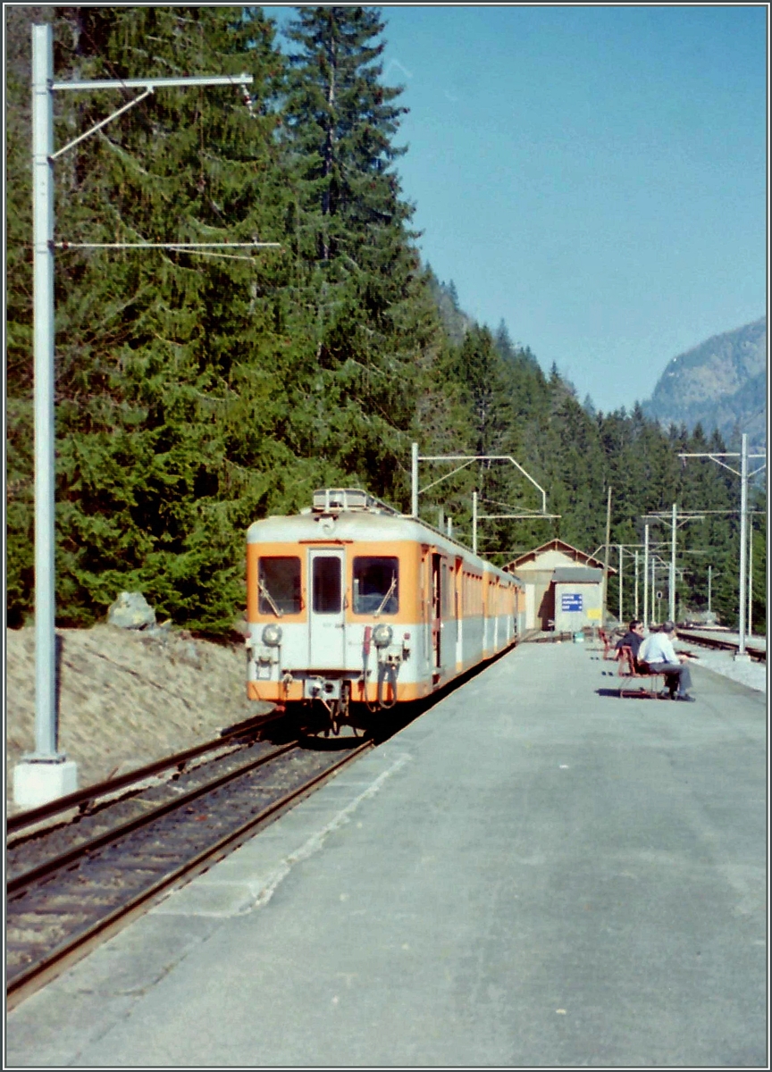
[{"label": "tallest conifer, rising against the blue sky behind the train", "polygon": [[405,109],[381,81],[383,29],[372,8],[299,9],[284,124],[302,310],[293,327],[308,340],[298,356],[313,385],[298,400],[298,449],[318,450],[321,420],[327,457],[399,501],[439,324],[392,169]]}]

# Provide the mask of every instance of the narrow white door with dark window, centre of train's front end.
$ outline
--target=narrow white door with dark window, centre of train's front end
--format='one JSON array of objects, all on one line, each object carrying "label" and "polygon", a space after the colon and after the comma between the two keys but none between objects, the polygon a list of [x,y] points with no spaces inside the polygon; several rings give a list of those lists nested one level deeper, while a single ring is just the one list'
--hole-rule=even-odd
[{"label": "narrow white door with dark window, centre of train's front end", "polygon": [[345,666],[343,551],[309,551],[309,668],[335,670]]}]

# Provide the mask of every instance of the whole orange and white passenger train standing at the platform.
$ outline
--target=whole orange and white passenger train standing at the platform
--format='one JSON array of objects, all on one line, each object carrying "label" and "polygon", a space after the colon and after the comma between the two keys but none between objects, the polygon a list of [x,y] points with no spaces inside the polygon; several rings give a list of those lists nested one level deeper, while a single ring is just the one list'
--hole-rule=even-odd
[{"label": "whole orange and white passenger train standing at the platform", "polygon": [[333,729],[428,696],[511,645],[517,578],[363,491],[326,489],[247,536],[247,695]]}]

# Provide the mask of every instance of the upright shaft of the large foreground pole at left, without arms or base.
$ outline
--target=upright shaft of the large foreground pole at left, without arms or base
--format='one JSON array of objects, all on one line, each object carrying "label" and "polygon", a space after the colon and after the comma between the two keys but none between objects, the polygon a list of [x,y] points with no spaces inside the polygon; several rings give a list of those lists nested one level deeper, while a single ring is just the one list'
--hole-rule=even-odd
[{"label": "upright shaft of the large foreground pole at left, without arms or base", "polygon": [[54,513],[54,79],[51,28],[32,27],[35,759],[58,760]]}]

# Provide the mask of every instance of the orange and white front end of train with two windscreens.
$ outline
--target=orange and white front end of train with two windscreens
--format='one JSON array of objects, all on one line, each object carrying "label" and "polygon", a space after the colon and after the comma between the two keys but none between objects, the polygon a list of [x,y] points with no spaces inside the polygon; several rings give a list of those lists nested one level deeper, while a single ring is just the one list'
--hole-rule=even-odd
[{"label": "orange and white front end of train with two windscreens", "polygon": [[317,491],[311,509],[251,525],[251,699],[307,705],[338,728],[352,706],[415,698],[418,552],[404,528],[397,511],[352,489]]}]

